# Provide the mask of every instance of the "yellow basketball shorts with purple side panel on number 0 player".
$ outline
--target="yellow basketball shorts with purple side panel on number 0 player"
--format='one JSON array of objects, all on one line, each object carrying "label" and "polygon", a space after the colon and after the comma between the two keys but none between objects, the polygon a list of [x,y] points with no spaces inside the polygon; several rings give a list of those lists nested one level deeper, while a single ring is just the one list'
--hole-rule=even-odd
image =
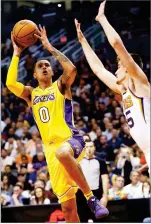
[{"label": "yellow basketball shorts with purple side panel on number 0 player", "polygon": [[78,190],[76,183],[56,158],[56,150],[64,145],[68,145],[73,150],[74,158],[78,162],[85,155],[85,143],[82,136],[72,137],[65,142],[52,143],[44,147],[52,189],[60,203],[74,198]]}]

